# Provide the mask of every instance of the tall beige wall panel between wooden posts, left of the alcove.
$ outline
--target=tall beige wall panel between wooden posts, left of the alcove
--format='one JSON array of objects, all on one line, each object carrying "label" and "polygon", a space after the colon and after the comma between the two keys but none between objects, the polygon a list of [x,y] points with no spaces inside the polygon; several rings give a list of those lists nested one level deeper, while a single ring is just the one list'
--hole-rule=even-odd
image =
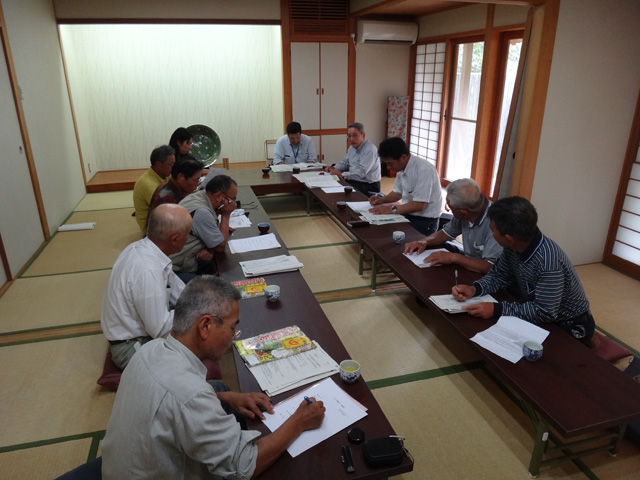
[{"label": "tall beige wall panel between wooden posts, left of the alcove", "polygon": [[53,5],[51,0],[5,0],[2,8],[42,199],[54,231],[85,190]]}]

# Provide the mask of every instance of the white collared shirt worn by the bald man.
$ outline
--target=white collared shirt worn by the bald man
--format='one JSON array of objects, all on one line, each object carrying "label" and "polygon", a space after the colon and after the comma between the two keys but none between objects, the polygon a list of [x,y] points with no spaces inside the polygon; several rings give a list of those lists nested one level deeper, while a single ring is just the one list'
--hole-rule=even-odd
[{"label": "white collared shirt worn by the bald man", "polygon": [[127,246],[113,265],[102,299],[100,325],[107,340],[164,337],[184,283],[171,260],[148,238]]}]

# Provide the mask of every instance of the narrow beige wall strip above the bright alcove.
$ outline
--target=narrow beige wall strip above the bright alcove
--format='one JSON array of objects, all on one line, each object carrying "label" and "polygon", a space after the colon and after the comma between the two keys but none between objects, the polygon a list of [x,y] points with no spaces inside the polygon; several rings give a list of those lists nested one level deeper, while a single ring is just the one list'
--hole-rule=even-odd
[{"label": "narrow beige wall strip above the bright alcove", "polygon": [[279,20],[280,0],[53,0],[56,18]]}]

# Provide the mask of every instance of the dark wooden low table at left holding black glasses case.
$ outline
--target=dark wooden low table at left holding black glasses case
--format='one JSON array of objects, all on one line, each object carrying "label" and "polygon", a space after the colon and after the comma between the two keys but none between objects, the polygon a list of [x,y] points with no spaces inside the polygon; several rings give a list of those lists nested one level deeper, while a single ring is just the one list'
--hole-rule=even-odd
[{"label": "dark wooden low table at left holding black glasses case", "polygon": [[[237,229],[232,238],[246,238],[258,235],[257,223],[269,221],[269,217],[250,187],[239,187],[238,198],[242,199],[243,203],[255,202],[258,208],[251,210],[249,214],[249,219],[253,225],[250,228]],[[273,225],[269,233],[276,235],[282,245],[281,248],[243,254],[226,253],[224,256],[218,256],[217,262],[221,272],[220,276],[228,281],[240,280],[244,276],[238,264],[239,261],[288,254],[284,242]],[[266,276],[266,279],[269,284],[280,285],[280,300],[275,303],[269,303],[265,297],[240,300],[239,328],[242,329],[243,338],[289,325],[298,325],[309,338],[316,340],[336,362],[339,363],[341,360],[350,358],[338,334],[331,326],[299,271],[272,274]],[[243,392],[260,391],[257,381],[235,349],[234,356],[240,390]],[[368,408],[368,415],[349,428],[354,426],[361,428],[365,431],[367,438],[395,435],[393,428],[364,379],[348,385],[340,380],[339,374],[333,375],[331,378],[349,395]],[[274,403],[282,401],[308,386],[274,396],[272,401]],[[269,430],[261,421],[254,420],[247,423],[250,429],[269,433]],[[396,467],[370,468],[364,463],[361,452],[362,445],[351,445],[356,471],[355,473],[347,474],[340,460],[341,445],[348,445],[346,431],[330,437],[296,458],[291,458],[288,453],[285,453],[260,478],[274,480],[294,477],[318,480],[340,478],[374,480],[413,470],[413,461],[408,457],[405,457],[402,463]]]}]

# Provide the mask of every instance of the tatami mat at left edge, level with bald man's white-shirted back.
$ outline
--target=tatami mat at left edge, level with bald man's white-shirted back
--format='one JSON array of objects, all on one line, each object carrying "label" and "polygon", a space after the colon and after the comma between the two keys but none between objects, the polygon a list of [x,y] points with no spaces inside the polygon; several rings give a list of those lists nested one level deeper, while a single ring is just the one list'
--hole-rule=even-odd
[{"label": "tatami mat at left edge, level with bald man's white-shirted back", "polygon": [[100,321],[111,270],[19,278],[0,298],[0,332]]}]

